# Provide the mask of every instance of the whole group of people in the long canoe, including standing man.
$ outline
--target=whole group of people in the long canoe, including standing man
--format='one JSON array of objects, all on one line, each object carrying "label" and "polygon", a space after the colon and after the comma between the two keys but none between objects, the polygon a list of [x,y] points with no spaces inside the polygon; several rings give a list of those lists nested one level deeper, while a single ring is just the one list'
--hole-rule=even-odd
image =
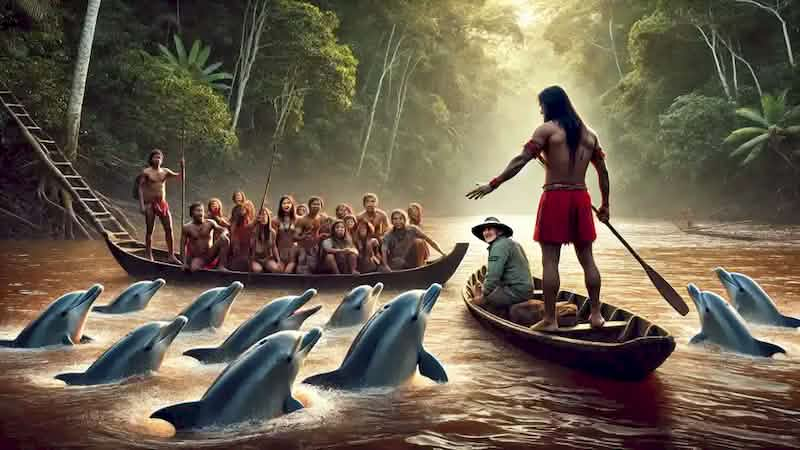
[{"label": "whole group of people in the long canoe, including standing man", "polygon": [[[219,198],[189,206],[191,221],[181,228],[179,259],[174,252],[165,182],[180,173],[162,167],[163,158],[163,152],[153,150],[148,167],[136,182],[136,196],[146,219],[145,256],[149,259],[156,217],[164,226],[170,262],[191,271],[304,275],[391,272],[424,265],[430,254],[428,246],[444,255],[422,229],[419,203],[387,215],[378,207],[378,196],[366,193],[360,213],[340,203],[329,216],[322,197],[313,196],[298,204],[291,195],[283,195],[277,212],[266,206],[256,212],[245,193],[236,191],[231,197],[230,214],[225,213]],[[181,169],[183,165],[181,161]]]}]

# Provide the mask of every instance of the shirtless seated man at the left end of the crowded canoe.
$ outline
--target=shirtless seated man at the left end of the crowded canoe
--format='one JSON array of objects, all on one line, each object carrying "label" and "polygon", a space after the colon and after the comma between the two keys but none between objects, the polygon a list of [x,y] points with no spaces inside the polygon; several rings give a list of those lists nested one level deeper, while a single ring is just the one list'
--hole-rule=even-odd
[{"label": "shirtless seated man at the left end of the crowded canoe", "polygon": [[[200,269],[216,268],[227,272],[228,248],[231,243],[227,228],[206,219],[203,204],[200,202],[189,205],[189,216],[192,221],[181,229],[181,260],[184,269],[196,272]],[[212,233],[219,233],[220,236],[212,240]]]}]

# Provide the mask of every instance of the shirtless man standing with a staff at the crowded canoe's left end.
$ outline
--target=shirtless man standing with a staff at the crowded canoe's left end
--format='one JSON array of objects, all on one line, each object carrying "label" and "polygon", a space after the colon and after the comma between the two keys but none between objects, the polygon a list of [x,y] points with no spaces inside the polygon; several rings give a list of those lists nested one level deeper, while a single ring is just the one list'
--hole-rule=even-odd
[{"label": "shirtless man standing with a staff at the crowded canoe's left end", "polygon": [[175,257],[172,242],[172,215],[169,213],[165,184],[168,178],[179,177],[183,174],[184,161],[181,159],[181,173],[175,173],[166,167],[161,167],[163,161],[164,153],[159,149],[154,149],[147,159],[148,166],[137,177],[139,209],[144,214],[146,225],[144,256],[147,259],[153,259],[153,228],[156,217],[158,217],[164,227],[164,240],[167,241],[169,261],[180,264],[181,262]]}]

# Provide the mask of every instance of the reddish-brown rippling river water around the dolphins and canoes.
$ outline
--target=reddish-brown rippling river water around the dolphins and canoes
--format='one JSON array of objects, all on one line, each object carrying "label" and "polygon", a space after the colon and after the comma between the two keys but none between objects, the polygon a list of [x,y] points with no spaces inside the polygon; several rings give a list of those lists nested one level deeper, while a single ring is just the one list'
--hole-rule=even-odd
[{"label": "reddish-brown rippling river water around the dolphins and canoes", "polygon": [[[122,383],[65,387],[54,375],[85,370],[134,327],[165,320],[213,287],[169,283],[144,311],[91,313],[85,333],[95,338],[71,348],[0,349],[2,448],[790,448],[800,446],[800,331],[750,326],[786,349],[773,359],[690,346],[700,326],[686,284],[724,291],[712,269],[723,266],[756,279],[783,314],[800,316],[800,245],[687,236],[663,222],[620,221],[617,229],[689,303],[685,317],[652,288],[636,261],[608,230],[598,227],[596,258],[603,299],[635,311],[674,334],[672,356],[641,382],[616,382],[565,369],[504,343],[470,316],[460,290],[486,257],[469,233],[478,217],[431,218],[427,229],[445,249],[470,250],[436,304],[425,346],[447,369],[437,385],[417,375],[397,389],[354,393],[300,385],[306,376],[340,364],[357,329],[326,332],[298,375],[294,393],[306,409],[271,421],[175,435],[150,414],[199,399],[223,370],[181,353],[216,346],[265,302],[288,291],[245,286],[221,330],[182,333],[159,372]],[[510,217],[538,274],[539,251],[530,217]],[[786,230],[761,228],[780,235]],[[789,230],[796,232],[797,230]],[[585,292],[571,248],[562,256],[562,288]],[[108,303],[137,281],[101,242],[3,242],[0,250],[0,339],[19,331],[59,295],[101,283],[95,304]],[[420,286],[424,288],[427,286]],[[298,292],[299,293],[299,292]],[[303,326],[322,326],[343,291],[322,291],[323,309]],[[398,291],[387,286],[381,296]]]}]

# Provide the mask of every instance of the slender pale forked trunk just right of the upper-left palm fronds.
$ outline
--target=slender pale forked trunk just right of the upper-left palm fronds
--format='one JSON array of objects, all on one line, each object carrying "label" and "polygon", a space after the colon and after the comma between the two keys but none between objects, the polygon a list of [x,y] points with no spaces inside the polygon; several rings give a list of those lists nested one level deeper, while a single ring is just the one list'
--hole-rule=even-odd
[{"label": "slender pale forked trunk just right of the upper-left palm fronds", "polygon": [[236,125],[239,123],[245,89],[247,89],[247,82],[250,80],[250,71],[253,70],[256,56],[258,56],[259,43],[261,42],[261,35],[264,32],[266,21],[267,1],[249,0],[242,19],[242,42],[239,47],[236,69],[234,70],[234,78],[238,76],[239,80],[238,82],[235,79],[233,80],[236,83],[236,98],[231,131],[236,131]]}]

